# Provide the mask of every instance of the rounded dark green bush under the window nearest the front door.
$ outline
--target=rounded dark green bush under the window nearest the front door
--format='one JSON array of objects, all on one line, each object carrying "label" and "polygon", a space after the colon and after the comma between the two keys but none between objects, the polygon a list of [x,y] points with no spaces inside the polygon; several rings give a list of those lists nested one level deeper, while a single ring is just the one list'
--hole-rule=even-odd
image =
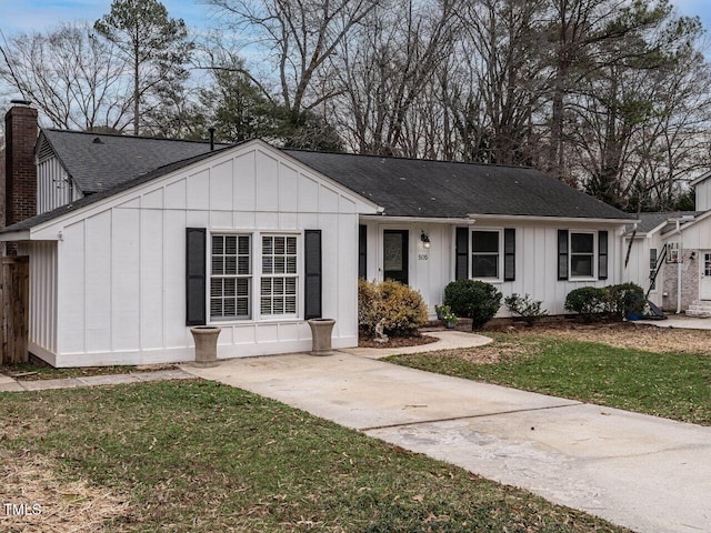
[{"label": "rounded dark green bush under the window nearest the front door", "polygon": [[444,304],[455,315],[471,319],[473,331],[494,318],[501,306],[501,293],[491,283],[457,280],[444,288]]}]

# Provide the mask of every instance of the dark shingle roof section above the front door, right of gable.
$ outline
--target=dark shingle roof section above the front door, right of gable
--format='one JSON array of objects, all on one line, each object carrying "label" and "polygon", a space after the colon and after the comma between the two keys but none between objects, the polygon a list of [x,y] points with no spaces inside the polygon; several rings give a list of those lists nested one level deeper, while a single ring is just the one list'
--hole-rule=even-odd
[{"label": "dark shingle roof section above the front door, right of gable", "polygon": [[343,153],[286,152],[391,217],[633,219],[538,170]]}]

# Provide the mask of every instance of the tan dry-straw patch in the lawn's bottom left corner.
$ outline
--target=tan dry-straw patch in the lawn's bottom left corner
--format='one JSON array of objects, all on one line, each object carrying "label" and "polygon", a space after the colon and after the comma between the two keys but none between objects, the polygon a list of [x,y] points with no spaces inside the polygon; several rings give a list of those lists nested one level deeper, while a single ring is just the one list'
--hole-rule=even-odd
[{"label": "tan dry-straw patch in the lawn's bottom left corner", "polygon": [[128,512],[128,499],[84,481],[59,480],[56,472],[42,455],[0,450],[1,531],[99,532],[104,521]]}]

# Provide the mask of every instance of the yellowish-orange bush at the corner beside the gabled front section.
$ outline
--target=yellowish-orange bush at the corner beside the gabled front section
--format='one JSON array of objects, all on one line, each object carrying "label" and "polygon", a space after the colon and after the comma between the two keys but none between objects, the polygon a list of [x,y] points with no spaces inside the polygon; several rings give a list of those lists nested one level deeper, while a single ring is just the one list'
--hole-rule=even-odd
[{"label": "yellowish-orange bush at the corner beside the gabled front section", "polygon": [[392,336],[411,335],[428,320],[428,310],[419,291],[398,281],[381,283],[358,281],[358,323],[372,335],[383,320],[384,332]]}]

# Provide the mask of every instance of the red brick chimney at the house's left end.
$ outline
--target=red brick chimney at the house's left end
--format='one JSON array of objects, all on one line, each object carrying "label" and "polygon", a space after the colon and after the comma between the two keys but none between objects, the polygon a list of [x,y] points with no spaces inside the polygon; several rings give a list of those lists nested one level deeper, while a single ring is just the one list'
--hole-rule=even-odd
[{"label": "red brick chimney at the house's left end", "polygon": [[4,115],[4,220],[2,227],[37,214],[37,109],[13,100]]}]

